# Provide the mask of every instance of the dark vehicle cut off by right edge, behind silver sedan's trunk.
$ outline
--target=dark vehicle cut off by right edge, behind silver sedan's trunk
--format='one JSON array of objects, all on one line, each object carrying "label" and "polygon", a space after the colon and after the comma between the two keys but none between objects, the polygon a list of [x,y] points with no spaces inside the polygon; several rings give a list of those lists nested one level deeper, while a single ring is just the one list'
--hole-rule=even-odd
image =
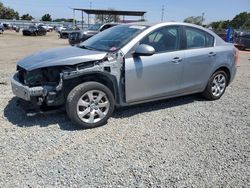
[{"label": "dark vehicle cut off by right edge, behind silver sedan's trunk", "polygon": [[250,31],[236,31],[234,44],[240,50],[250,49]]}]

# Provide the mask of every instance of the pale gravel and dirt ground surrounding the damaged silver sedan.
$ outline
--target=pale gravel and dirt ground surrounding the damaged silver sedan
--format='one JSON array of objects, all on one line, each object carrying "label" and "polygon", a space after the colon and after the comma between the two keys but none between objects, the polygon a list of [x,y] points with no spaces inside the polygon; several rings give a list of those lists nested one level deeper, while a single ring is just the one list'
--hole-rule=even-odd
[{"label": "pale gravel and dirt ground surrounding the damaged silver sedan", "polygon": [[77,130],[65,113],[25,117],[9,82],[18,59],[63,45],[55,33],[0,35],[0,187],[250,187],[250,52],[221,100],[119,109]]}]

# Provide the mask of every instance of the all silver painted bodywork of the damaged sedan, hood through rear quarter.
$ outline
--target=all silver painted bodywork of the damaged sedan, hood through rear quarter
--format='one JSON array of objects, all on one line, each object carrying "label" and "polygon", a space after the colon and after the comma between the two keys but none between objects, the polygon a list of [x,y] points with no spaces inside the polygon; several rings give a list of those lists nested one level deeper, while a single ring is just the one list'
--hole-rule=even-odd
[{"label": "all silver painted bodywork of the damaged sedan, hood through rear quarter", "polygon": [[[132,25],[138,25],[138,23]],[[101,60],[105,56],[110,57],[109,61],[93,68],[84,69],[84,73],[103,72],[104,66],[110,66],[110,74],[117,79],[121,106],[202,92],[213,72],[220,67],[227,67],[231,73],[230,81],[233,80],[236,73],[235,48],[224,42],[212,31],[196,25],[176,22],[139,23],[139,25],[150,27],[126,44],[117,54],[66,47],[36,53],[17,64],[30,71],[49,66],[76,65],[87,61]],[[152,56],[135,57],[132,55],[135,46],[143,37],[158,28],[172,25],[190,26],[210,33],[215,38],[214,47],[164,52]],[[209,55],[211,52],[216,55]],[[176,57],[179,57],[180,60],[174,60]],[[125,86],[120,82],[120,70],[124,60]],[[77,74],[78,72],[75,76]],[[122,98],[124,96],[123,87],[125,87],[125,101]]]}]

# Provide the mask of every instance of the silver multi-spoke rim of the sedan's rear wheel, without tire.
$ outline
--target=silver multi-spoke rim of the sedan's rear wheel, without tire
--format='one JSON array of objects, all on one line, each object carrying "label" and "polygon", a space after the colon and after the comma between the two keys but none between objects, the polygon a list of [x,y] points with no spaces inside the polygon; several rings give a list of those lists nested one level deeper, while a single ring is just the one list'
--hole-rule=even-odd
[{"label": "silver multi-spoke rim of the sedan's rear wheel, without tire", "polygon": [[226,88],[226,77],[223,74],[218,74],[214,77],[212,84],[212,94],[219,97]]}]

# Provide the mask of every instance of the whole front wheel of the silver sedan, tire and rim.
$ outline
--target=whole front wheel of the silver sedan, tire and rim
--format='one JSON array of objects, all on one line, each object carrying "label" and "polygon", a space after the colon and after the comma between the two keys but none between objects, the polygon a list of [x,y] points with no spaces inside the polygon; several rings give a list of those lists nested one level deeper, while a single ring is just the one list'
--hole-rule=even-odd
[{"label": "whole front wheel of the silver sedan, tire and rim", "polygon": [[69,118],[82,128],[104,125],[114,111],[114,96],[98,82],[76,86],[68,95],[66,111]]}]

